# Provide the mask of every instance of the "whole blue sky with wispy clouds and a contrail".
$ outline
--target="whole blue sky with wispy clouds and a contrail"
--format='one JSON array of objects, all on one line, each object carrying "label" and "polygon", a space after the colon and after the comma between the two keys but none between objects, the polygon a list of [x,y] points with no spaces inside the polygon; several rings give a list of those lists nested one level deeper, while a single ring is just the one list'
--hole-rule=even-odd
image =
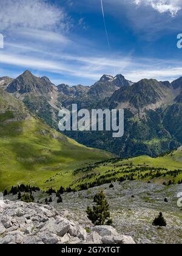
[{"label": "whole blue sky with wispy clouds and a contrail", "polygon": [[0,6],[0,77],[29,69],[56,85],[92,85],[103,74],[133,82],[182,76],[182,0],[0,0]]}]

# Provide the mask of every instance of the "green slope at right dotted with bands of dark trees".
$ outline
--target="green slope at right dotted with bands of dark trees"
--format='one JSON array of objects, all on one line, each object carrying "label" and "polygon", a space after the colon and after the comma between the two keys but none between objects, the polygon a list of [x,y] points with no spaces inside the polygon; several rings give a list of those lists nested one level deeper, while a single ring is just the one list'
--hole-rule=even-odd
[{"label": "green slope at right dotted with bands of dark trees", "polygon": [[[182,183],[182,148],[157,158],[147,156],[127,160],[115,158],[78,169],[74,174],[73,187],[76,189],[95,187],[119,180],[141,180],[160,184],[165,182],[166,185],[171,181],[180,184]],[[83,178],[76,179],[78,174],[83,174]]]}]

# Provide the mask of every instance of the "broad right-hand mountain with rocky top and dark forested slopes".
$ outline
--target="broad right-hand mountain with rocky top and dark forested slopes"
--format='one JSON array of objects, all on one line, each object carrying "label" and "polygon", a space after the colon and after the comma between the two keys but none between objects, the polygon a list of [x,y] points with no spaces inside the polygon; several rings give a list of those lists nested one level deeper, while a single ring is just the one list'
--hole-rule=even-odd
[{"label": "broad right-hand mountain with rocky top and dark forested slopes", "polygon": [[[112,80],[104,76],[101,80]],[[105,82],[104,82],[105,81]],[[99,82],[100,83],[100,82]],[[87,146],[107,149],[121,157],[150,155],[171,151],[181,144],[181,87],[169,81],[142,79],[114,91],[112,96],[93,102],[80,99],[89,108],[125,108],[125,128],[122,138],[112,138],[110,132],[66,132]],[[96,97],[95,97],[96,98]],[[174,119],[174,121],[173,121]],[[174,124],[174,125],[173,125]]]}]

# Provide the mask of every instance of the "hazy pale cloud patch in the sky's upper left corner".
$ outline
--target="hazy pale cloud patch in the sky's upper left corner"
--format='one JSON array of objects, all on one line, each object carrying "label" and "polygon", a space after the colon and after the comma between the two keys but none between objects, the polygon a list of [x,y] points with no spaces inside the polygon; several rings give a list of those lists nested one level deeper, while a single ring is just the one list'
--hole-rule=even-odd
[{"label": "hazy pale cloud patch in the sky's upper left corner", "polygon": [[44,0],[1,1],[0,30],[28,27],[50,29],[59,26],[66,29],[66,14]]}]

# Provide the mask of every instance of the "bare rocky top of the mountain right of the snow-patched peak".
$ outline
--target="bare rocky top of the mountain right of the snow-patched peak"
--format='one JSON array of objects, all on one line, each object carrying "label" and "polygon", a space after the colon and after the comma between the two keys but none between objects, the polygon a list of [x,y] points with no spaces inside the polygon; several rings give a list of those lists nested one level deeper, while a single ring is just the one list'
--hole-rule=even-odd
[{"label": "bare rocky top of the mountain right of the snow-patched peak", "polygon": [[170,83],[155,79],[143,79],[130,87],[115,91],[104,105],[113,108],[129,108],[133,113],[146,109],[156,109],[175,99]]}]

